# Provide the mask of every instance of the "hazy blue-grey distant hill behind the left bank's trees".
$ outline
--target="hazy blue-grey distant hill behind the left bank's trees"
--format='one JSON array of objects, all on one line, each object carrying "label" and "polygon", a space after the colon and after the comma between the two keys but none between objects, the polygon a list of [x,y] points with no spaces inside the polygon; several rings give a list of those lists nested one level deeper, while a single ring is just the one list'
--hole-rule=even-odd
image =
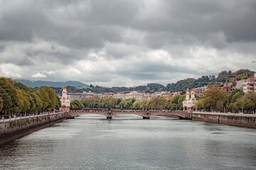
[{"label": "hazy blue-grey distant hill behind the left bank's trees", "polygon": [[24,79],[16,79],[16,81],[25,84],[26,86],[31,87],[40,87],[40,86],[51,86],[51,87],[63,87],[63,86],[88,86],[87,84],[83,84],[80,81],[29,81]]}]

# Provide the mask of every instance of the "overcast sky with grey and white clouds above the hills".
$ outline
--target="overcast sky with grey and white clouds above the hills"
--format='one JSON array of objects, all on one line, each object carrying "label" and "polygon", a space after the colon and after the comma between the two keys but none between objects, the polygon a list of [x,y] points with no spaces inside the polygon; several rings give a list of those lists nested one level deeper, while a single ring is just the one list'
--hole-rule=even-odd
[{"label": "overcast sky with grey and white clouds above the hills", "polygon": [[0,76],[100,86],[256,71],[255,0],[0,0]]}]

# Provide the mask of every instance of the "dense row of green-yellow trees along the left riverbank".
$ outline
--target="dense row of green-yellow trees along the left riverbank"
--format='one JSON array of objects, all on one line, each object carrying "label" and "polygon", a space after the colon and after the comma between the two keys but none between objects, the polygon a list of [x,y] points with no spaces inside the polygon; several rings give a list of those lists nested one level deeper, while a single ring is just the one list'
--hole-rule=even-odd
[{"label": "dense row of green-yellow trees along the left riverbank", "polygon": [[36,113],[53,110],[60,101],[53,89],[41,87],[36,91],[9,78],[0,78],[1,114]]}]

